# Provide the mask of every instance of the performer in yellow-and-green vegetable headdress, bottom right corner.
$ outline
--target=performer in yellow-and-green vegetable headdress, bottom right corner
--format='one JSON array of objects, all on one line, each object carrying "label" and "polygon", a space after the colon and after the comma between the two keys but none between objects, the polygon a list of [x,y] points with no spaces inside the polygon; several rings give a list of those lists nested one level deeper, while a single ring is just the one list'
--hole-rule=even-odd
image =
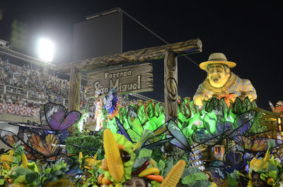
[{"label": "performer in yellow-and-green vegetable headdress, bottom right corner", "polygon": [[268,142],[268,149],[263,159],[253,159],[250,161],[248,187],[280,186],[282,166],[272,157],[270,151],[274,142]]}]

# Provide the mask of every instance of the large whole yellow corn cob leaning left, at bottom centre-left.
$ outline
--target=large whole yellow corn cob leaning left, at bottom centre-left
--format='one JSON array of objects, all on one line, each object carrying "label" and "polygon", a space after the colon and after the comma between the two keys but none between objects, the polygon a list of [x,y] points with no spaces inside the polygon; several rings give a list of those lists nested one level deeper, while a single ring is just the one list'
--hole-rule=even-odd
[{"label": "large whole yellow corn cob leaning left, at bottom centre-left", "polygon": [[105,129],[103,133],[103,145],[110,174],[117,183],[120,183],[124,176],[124,165],[117,143],[110,129]]}]

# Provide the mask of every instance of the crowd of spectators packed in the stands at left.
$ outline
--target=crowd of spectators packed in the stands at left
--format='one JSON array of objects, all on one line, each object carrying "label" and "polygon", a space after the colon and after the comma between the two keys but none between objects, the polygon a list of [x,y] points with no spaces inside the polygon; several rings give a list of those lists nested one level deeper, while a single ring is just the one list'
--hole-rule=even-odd
[{"label": "crowd of spectators packed in the stands at left", "polygon": [[[40,68],[30,68],[23,64],[18,66],[9,62],[9,59],[1,59],[0,56],[0,86],[8,85],[8,92],[13,89],[26,90],[29,92],[30,99],[24,95],[16,96],[1,93],[0,102],[11,102],[13,104],[55,102],[63,103],[69,95],[69,81],[58,78],[58,76],[46,73]],[[86,87],[81,87],[81,107],[86,104]],[[21,97],[23,96],[23,97]],[[33,102],[35,101],[35,102]],[[66,104],[66,103],[65,103]],[[92,103],[90,104],[92,105]]]}]

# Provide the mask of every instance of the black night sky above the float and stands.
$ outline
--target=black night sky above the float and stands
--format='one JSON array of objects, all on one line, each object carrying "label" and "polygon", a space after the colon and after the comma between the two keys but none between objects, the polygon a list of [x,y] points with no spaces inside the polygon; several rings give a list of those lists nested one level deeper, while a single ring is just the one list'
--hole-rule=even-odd
[{"label": "black night sky above the float and stands", "polygon": [[[203,52],[190,55],[200,64],[209,54],[223,52],[236,62],[233,73],[249,79],[258,93],[258,105],[269,109],[282,98],[282,5],[249,4],[229,1],[1,1],[0,39],[10,41],[11,24],[20,20],[28,25],[25,54],[36,56],[35,39],[50,37],[57,45],[54,61],[71,61],[74,23],[85,16],[120,7],[169,43],[200,38]],[[123,16],[125,19],[127,16]],[[129,19],[130,20],[130,19]],[[125,21],[124,49],[135,50],[165,44],[141,28]],[[127,38],[127,37],[126,37]],[[178,92],[192,97],[206,73],[185,57],[178,58]],[[154,63],[154,92],[144,95],[163,101],[163,62]]]}]

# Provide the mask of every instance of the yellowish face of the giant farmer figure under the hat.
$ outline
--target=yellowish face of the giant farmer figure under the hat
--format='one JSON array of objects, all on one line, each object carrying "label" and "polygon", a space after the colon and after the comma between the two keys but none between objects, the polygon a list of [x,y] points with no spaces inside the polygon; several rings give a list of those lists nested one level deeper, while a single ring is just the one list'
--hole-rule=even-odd
[{"label": "yellowish face of the giant farmer figure under the hat", "polygon": [[230,77],[230,69],[227,68],[225,71],[225,68],[222,64],[210,65],[208,67],[207,73],[208,73],[207,78],[209,79],[209,83],[214,88],[223,87]]}]

